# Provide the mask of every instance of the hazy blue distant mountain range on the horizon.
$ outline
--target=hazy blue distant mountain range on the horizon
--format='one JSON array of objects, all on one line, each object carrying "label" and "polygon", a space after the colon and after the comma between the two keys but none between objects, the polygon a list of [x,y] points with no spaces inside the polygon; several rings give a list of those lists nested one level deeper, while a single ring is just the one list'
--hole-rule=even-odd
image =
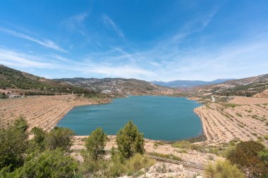
[{"label": "hazy blue distant mountain range on the horizon", "polygon": [[205,84],[220,84],[222,82],[226,82],[229,80],[233,80],[233,79],[217,79],[211,82],[205,82],[201,80],[174,80],[171,82],[162,82],[162,81],[154,80],[151,83],[158,84],[164,87],[174,87],[174,88],[176,87],[177,88],[177,87],[197,87],[197,86],[205,85]]}]

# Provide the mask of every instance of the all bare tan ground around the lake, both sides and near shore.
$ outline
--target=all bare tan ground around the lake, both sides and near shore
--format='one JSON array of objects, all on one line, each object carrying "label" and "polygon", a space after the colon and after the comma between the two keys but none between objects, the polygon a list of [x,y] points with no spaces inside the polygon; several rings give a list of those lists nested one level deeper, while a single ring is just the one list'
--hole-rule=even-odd
[{"label": "all bare tan ground around the lake, both sides and near shore", "polygon": [[[111,100],[103,98],[79,98],[75,95],[32,96],[0,101],[0,125],[5,126],[16,120],[20,115],[25,117],[32,127],[42,127],[49,131],[74,106],[107,103]],[[200,116],[207,137],[206,141],[195,144],[202,146],[220,146],[231,140],[239,139],[260,140],[268,134],[268,98],[235,97],[228,103],[208,103],[195,108]],[[75,136],[75,149],[85,148],[84,140],[87,136]],[[116,147],[116,137],[109,136],[106,149]],[[162,141],[145,139],[147,153],[174,155],[184,161],[205,165],[211,160],[222,159],[213,153],[189,148],[176,148],[172,144]]]}]

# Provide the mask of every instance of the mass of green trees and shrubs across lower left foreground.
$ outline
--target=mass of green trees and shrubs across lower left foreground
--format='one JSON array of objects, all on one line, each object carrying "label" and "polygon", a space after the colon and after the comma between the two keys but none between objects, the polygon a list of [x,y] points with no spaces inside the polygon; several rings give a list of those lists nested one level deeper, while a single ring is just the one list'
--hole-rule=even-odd
[{"label": "mass of green trees and shrubs across lower left foreground", "polygon": [[[74,160],[69,148],[73,131],[56,127],[44,132],[34,127],[28,140],[28,125],[23,117],[12,125],[0,128],[0,177],[118,177],[138,175],[139,170],[154,164],[144,153],[142,134],[133,122],[121,129],[119,144],[130,149],[113,149],[111,159],[104,160],[104,146],[108,137],[100,128],[90,134],[86,142],[83,163]],[[127,142],[125,142],[128,140]],[[130,155],[127,157],[126,153]]]}]

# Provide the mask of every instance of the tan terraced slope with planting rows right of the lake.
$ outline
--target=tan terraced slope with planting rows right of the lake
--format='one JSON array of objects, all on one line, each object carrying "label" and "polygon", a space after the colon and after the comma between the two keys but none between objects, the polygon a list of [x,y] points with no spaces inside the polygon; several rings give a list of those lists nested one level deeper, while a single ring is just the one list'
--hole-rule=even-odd
[{"label": "tan terraced slope with planting rows right of the lake", "polygon": [[[231,103],[241,105],[231,105]],[[262,139],[268,134],[267,98],[236,97],[230,105],[211,103],[195,108],[202,119],[207,141],[200,144],[221,144],[240,139]],[[264,140],[264,144],[268,144]]]}]

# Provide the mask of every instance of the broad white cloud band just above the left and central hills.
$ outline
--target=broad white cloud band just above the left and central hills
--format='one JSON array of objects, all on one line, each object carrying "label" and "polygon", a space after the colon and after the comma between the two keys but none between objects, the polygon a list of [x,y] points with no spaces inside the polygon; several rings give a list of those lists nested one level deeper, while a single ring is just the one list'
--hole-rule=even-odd
[{"label": "broad white cloud band just above the left and central hills", "polygon": [[[138,65],[106,63],[103,61],[89,61],[87,59],[76,62],[63,56],[49,54],[36,56],[34,54],[22,53],[12,49],[0,48],[1,64],[14,68],[42,68],[68,70],[68,73],[82,73],[84,76],[92,77],[134,77],[142,79],[154,75],[154,72],[146,70]],[[65,77],[73,77],[66,76]]]}]

